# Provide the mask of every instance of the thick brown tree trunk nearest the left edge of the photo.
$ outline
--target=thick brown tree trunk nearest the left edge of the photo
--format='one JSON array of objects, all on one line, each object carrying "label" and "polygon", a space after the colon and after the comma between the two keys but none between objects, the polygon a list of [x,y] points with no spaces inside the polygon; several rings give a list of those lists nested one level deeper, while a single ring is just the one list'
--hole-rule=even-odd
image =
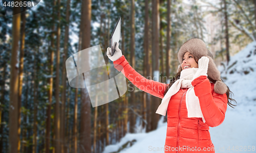
[{"label": "thick brown tree trunk nearest the left edge of the photo", "polygon": [[[16,1],[20,2],[20,0]],[[20,7],[13,8],[12,17],[12,52],[9,105],[9,152],[18,152],[18,41],[20,36]]]}]

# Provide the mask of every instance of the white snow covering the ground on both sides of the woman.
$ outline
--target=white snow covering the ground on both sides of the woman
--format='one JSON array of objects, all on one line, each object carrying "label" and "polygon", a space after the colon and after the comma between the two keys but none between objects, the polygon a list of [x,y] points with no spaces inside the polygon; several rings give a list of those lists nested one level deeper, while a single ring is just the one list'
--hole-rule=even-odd
[{"label": "white snow covering the ground on both sides of the woman", "polygon": [[[256,152],[256,42],[231,57],[229,64],[219,70],[238,104],[235,108],[228,106],[221,125],[210,127],[211,141],[216,152]],[[164,152],[167,123],[162,121],[163,118],[150,133],[126,134],[121,142],[107,146],[104,153],[117,151],[134,139],[136,142],[120,153]]]}]

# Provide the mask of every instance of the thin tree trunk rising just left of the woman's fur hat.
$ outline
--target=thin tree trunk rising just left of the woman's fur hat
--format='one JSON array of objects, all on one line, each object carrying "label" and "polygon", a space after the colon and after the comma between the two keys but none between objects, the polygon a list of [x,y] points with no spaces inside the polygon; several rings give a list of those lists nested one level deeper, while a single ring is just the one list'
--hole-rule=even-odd
[{"label": "thin tree trunk rising just left of the woman's fur hat", "polygon": [[172,0],[167,0],[167,35],[166,35],[166,83],[169,83],[169,75],[170,75],[170,37],[172,35],[172,19],[171,19],[171,6]]}]

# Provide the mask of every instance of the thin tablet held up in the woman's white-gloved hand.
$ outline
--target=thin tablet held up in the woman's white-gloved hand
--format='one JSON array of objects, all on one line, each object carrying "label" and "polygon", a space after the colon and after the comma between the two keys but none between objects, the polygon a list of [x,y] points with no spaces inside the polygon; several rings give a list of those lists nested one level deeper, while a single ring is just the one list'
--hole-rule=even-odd
[{"label": "thin tablet held up in the woman's white-gloved hand", "polygon": [[110,36],[111,56],[116,51],[116,42],[119,42],[121,37],[121,17],[118,18],[115,29]]}]

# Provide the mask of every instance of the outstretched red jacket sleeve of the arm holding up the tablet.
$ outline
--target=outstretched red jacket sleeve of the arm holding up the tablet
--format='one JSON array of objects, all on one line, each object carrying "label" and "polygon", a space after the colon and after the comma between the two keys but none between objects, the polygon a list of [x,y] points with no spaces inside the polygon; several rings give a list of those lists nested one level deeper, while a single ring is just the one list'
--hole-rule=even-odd
[{"label": "outstretched red jacket sleeve of the arm holding up the tablet", "polygon": [[125,59],[124,55],[118,60],[114,61],[114,67],[123,75],[129,79],[138,89],[151,94],[153,96],[163,98],[164,91],[166,89],[165,83],[149,80],[136,72],[129,62]]}]

